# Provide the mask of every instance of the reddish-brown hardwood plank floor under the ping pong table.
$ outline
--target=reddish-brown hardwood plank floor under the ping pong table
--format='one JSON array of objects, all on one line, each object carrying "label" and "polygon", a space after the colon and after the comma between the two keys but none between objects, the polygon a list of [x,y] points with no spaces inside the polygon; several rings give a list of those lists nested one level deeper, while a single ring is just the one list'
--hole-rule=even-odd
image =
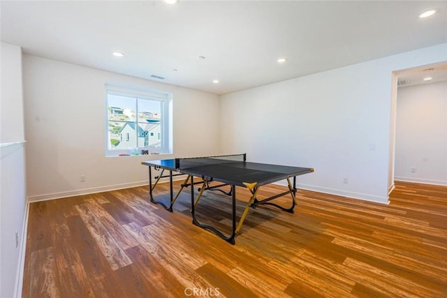
[{"label": "reddish-brown hardwood plank floor under the ping pong table", "polygon": [[[32,203],[22,297],[447,297],[445,186],[397,183],[388,205],[298,191],[294,214],[251,209],[235,246],[192,225],[189,191],[173,213],[147,195]],[[230,224],[226,196],[197,212]]]}]

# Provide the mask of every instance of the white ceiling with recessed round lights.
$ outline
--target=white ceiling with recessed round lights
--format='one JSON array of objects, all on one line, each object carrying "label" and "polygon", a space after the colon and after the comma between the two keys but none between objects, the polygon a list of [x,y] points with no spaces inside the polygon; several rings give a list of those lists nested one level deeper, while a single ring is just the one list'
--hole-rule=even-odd
[{"label": "white ceiling with recessed round lights", "polygon": [[[438,13],[419,19],[430,8]],[[41,57],[227,94],[445,43],[447,2],[1,1],[1,40]]]}]

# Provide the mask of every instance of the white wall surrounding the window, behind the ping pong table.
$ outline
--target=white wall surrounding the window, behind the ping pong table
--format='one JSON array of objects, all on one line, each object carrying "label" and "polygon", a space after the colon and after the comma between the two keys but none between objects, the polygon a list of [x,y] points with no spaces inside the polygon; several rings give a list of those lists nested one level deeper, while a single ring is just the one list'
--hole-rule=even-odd
[{"label": "white wall surrounding the window, behind the ping pong table", "polygon": [[[219,151],[219,96],[31,55],[23,64],[29,200],[147,184],[141,161]],[[173,93],[174,155],[105,157],[106,83]]]}]

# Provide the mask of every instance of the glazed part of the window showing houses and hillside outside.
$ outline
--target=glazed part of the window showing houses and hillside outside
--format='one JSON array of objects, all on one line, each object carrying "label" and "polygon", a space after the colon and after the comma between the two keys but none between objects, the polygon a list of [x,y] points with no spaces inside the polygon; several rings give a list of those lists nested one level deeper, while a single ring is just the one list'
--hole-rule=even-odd
[{"label": "glazed part of the window showing houses and hillside outside", "polygon": [[163,149],[163,98],[107,91],[108,150]]}]

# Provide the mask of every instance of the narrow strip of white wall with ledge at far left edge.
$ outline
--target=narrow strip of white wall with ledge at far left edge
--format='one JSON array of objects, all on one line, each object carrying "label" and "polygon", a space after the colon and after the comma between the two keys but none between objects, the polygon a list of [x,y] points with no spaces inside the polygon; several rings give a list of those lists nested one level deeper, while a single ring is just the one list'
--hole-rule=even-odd
[{"label": "narrow strip of white wall with ledge at far left edge", "polygon": [[[0,96],[0,297],[13,297],[20,283],[20,257],[27,204],[24,174],[22,50],[1,43]],[[18,244],[15,243],[17,232]]]}]

